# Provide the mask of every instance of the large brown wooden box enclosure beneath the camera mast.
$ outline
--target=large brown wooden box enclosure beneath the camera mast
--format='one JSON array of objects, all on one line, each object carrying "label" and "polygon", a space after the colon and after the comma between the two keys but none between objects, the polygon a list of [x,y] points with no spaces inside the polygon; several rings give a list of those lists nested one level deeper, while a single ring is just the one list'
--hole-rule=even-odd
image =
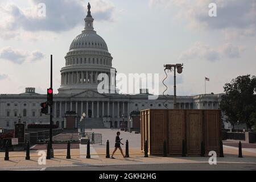
[{"label": "large brown wooden box enclosure beneath the camera mast", "polygon": [[200,156],[202,142],[205,155],[220,154],[220,126],[220,110],[142,110],[141,149],[147,140],[150,155],[163,155],[166,141],[168,155],[181,155],[184,140],[188,156]]}]

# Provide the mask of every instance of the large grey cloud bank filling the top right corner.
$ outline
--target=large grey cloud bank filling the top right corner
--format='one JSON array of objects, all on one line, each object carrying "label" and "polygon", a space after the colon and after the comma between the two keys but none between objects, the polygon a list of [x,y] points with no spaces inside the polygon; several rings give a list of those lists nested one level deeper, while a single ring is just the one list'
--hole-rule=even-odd
[{"label": "large grey cloud bank filling the top right corner", "polygon": [[[253,36],[256,32],[255,0],[149,0],[148,3],[151,7],[178,9],[176,19],[186,19],[192,28],[235,30],[244,36]],[[217,17],[208,15],[210,3],[216,3]]]}]

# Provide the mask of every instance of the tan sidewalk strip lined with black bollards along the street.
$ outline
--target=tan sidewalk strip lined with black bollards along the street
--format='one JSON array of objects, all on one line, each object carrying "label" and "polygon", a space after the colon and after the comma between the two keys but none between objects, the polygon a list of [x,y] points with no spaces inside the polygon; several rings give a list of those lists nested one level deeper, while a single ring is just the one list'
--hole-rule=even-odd
[{"label": "tan sidewalk strip lined with black bollards along the street", "polygon": [[[71,150],[71,158],[65,159],[66,150],[55,150],[55,158],[46,160],[46,165],[39,165],[37,151],[31,151],[31,160],[25,160],[26,152],[10,152],[10,160],[5,161],[5,153],[0,153],[0,170],[9,169],[26,169],[26,168],[47,168],[47,167],[70,167],[70,166],[111,166],[111,165],[131,165],[131,164],[192,164],[192,163],[208,163],[209,158],[171,156],[163,158],[162,156],[150,156],[144,158],[140,148],[130,148],[130,158],[123,159],[119,152],[115,155],[116,159],[106,159],[105,150],[103,148],[94,148],[91,146],[91,159],[85,158],[85,146],[80,149]],[[110,148],[110,153],[113,148]],[[255,149],[254,149],[255,150]],[[217,158],[217,163],[236,163],[236,164],[255,164],[256,166],[256,150],[245,151],[243,149],[243,158],[238,158],[238,148],[224,146],[225,158]],[[82,154],[81,154],[82,152]],[[19,156],[19,157],[14,157]]]}]

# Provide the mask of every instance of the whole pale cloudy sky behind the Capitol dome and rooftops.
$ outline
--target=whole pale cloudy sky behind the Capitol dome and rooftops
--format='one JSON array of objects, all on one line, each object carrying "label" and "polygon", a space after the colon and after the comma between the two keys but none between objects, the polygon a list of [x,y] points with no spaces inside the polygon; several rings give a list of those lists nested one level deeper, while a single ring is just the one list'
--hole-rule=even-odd
[{"label": "whole pale cloudy sky behind the Capitol dome and rooftops", "polygon": [[[42,4],[46,5],[46,16]],[[0,0],[0,94],[49,87],[53,55],[53,90],[77,35],[84,29],[88,1]],[[217,16],[210,17],[210,3]],[[159,73],[164,64],[183,63],[177,95],[222,93],[240,75],[256,75],[255,0],[91,0],[94,30],[104,38],[118,73]],[[40,13],[40,14],[39,14]],[[173,73],[168,73],[173,94]]]}]

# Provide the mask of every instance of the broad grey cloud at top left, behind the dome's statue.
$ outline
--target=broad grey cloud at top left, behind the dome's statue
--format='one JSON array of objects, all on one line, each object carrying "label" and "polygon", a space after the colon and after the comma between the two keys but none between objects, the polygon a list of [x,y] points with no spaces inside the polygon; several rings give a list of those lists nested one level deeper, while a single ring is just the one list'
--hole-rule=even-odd
[{"label": "broad grey cloud at top left, behind the dome's statue", "polygon": [[[44,11],[46,16],[39,16]],[[0,5],[0,31],[4,39],[11,39],[20,30],[27,32],[63,32],[83,24],[87,4],[81,0],[30,0],[31,7],[22,9],[13,3]],[[113,21],[115,6],[109,0],[94,0],[91,3],[92,16],[97,20]],[[18,31],[19,30],[19,31]]]}]

